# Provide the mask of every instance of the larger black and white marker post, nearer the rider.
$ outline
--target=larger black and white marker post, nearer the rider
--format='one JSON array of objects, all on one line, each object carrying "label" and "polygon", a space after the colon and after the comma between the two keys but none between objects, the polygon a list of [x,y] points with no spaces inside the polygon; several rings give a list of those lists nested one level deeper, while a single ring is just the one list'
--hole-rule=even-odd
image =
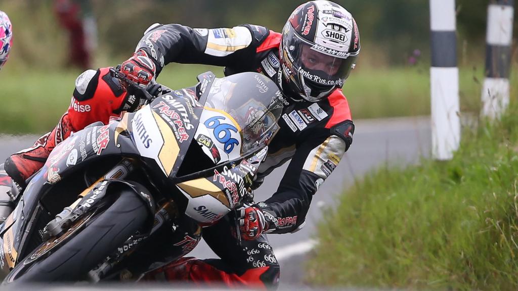
[{"label": "larger black and white marker post, nearer the rider", "polygon": [[430,0],[430,28],[432,155],[448,160],[461,140],[455,0]]}]

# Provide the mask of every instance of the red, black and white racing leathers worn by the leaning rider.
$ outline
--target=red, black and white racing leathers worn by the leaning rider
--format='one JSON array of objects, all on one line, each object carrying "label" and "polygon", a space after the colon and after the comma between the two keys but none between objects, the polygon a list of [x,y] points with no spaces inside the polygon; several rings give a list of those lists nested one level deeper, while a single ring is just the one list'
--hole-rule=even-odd
[{"label": "red, black and white racing leathers worn by the leaning rider", "polygon": [[[225,66],[225,75],[262,72],[281,88],[287,88],[279,76],[280,38],[279,33],[256,25],[209,30],[157,24],[148,28],[136,50],[145,51],[153,60],[155,77],[171,62],[209,64]],[[138,106],[138,100],[110,78],[108,68],[90,71],[84,79],[90,81],[76,82],[68,110],[74,130],[95,121],[107,123],[110,115],[133,111]],[[286,89],[283,94],[280,130],[269,145],[256,181],[289,159],[291,162],[277,192],[254,205],[265,215],[267,233],[276,234],[294,231],[303,224],[312,196],[340,162],[354,132],[349,105],[341,90],[318,103],[295,101],[297,95]],[[243,240],[239,246],[230,229],[226,219],[204,229],[204,239],[221,260],[183,259],[153,271],[147,278],[275,287],[279,265],[266,237]]]}]

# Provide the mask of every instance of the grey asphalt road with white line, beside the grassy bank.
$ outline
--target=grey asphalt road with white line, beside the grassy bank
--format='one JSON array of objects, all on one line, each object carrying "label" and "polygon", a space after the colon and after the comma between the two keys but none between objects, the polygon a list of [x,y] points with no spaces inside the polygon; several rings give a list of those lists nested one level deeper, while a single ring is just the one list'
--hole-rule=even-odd
[{"label": "grey asphalt road with white line, beside the grassy bank", "polygon": [[[270,235],[269,241],[280,258],[281,286],[301,285],[304,282],[304,262],[310,239],[314,239],[315,225],[325,206],[333,206],[336,196],[344,188],[361,179],[364,174],[384,163],[406,165],[429,156],[431,132],[428,117],[359,120],[355,122],[354,141],[333,174],[313,197],[306,225],[295,234]],[[12,152],[30,146],[37,136],[0,136],[0,161]],[[255,192],[255,200],[262,201],[275,193],[287,165],[273,171]],[[303,246],[300,246],[304,244]],[[202,241],[191,255],[210,258],[215,255]]]}]

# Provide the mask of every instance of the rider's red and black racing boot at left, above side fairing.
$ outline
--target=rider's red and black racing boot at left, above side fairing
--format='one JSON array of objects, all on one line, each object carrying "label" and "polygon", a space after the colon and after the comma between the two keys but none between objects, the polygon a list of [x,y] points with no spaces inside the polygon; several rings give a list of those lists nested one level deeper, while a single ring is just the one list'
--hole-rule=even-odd
[{"label": "rider's red and black racing boot at left, above side fairing", "polygon": [[73,130],[68,113],[65,113],[57,126],[50,133],[40,137],[31,148],[8,157],[5,161],[5,171],[12,180],[25,187],[25,180],[43,167],[54,147],[70,136]]}]

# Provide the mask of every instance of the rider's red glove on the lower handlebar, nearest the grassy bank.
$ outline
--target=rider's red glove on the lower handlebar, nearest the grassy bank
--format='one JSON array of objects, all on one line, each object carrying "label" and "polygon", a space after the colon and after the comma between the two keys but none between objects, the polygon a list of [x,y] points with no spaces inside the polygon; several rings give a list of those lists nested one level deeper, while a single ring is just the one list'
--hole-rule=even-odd
[{"label": "rider's red glove on the lower handlebar, nearest the grassy bank", "polygon": [[255,240],[268,230],[268,224],[261,209],[245,205],[238,209],[238,214],[239,230],[244,240]]}]

